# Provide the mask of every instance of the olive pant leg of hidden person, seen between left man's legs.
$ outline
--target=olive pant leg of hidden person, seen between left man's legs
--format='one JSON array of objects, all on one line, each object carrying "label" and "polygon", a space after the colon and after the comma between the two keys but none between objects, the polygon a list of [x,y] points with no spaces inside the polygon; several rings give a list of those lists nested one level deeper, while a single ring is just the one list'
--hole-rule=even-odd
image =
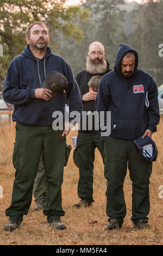
[{"label": "olive pant leg of hidden person, seen between left man's legs", "polygon": [[42,200],[43,202],[46,202],[47,198],[47,179],[46,179],[46,171],[45,167],[43,165],[43,153],[40,157],[40,163],[37,170],[35,182],[33,185],[33,196],[35,198],[35,202],[37,200]]}]

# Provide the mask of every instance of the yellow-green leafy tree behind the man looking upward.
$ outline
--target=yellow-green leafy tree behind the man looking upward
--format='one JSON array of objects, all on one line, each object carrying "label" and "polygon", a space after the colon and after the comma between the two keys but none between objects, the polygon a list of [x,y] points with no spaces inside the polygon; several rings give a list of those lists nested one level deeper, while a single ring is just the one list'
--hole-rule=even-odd
[{"label": "yellow-green leafy tree behind the man looking upward", "polygon": [[45,22],[51,32],[52,51],[58,52],[58,35],[74,36],[81,40],[83,31],[72,22],[84,22],[89,11],[79,6],[66,7],[66,0],[1,0],[0,2],[0,44],[3,57],[0,63],[2,85],[12,58],[20,54],[27,44],[26,29],[34,21]]}]

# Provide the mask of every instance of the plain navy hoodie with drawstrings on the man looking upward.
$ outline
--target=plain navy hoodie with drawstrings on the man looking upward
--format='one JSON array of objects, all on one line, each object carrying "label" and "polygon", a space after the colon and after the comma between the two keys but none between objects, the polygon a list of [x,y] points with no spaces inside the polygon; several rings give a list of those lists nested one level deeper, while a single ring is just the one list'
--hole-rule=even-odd
[{"label": "plain navy hoodie with drawstrings on the man looking upward", "polygon": [[36,58],[29,45],[24,51],[12,59],[5,78],[4,101],[14,106],[12,120],[24,125],[51,126],[54,111],[65,112],[65,95],[61,91],[53,100],[45,101],[35,98],[35,89],[40,88],[50,71],[58,71],[68,80],[66,95],[69,110],[82,113],[82,98],[70,66],[63,58],[52,53],[47,47],[42,59]]}]

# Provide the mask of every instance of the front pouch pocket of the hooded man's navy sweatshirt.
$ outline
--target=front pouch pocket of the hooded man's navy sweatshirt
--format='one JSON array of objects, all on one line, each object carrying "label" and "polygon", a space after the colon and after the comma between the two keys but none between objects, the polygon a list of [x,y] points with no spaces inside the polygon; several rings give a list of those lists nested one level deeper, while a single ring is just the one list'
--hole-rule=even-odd
[{"label": "front pouch pocket of the hooded man's navy sweatshirt", "polygon": [[143,118],[118,119],[112,123],[111,136],[122,139],[136,139],[143,135],[147,125]]}]

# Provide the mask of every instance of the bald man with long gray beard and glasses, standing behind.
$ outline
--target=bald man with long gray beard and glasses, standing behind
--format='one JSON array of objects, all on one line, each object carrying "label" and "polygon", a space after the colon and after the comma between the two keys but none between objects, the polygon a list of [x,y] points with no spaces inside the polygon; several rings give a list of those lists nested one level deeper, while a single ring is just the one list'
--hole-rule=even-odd
[{"label": "bald man with long gray beard and glasses, standing behind", "polygon": [[[110,72],[110,64],[105,59],[104,46],[101,42],[92,42],[86,62],[86,70],[80,71],[76,75],[80,93],[83,101],[83,111],[93,113],[96,110],[95,100],[97,92],[92,92],[88,86],[91,77]],[[92,119],[92,129],[89,130],[86,121],[86,130],[80,118],[80,129],[78,131],[77,146],[73,152],[73,159],[79,168],[78,196],[81,199],[74,208],[82,206],[89,207],[93,200],[93,162],[95,160],[95,149],[98,148],[104,163],[104,138],[98,135],[95,129],[95,120]]]}]

